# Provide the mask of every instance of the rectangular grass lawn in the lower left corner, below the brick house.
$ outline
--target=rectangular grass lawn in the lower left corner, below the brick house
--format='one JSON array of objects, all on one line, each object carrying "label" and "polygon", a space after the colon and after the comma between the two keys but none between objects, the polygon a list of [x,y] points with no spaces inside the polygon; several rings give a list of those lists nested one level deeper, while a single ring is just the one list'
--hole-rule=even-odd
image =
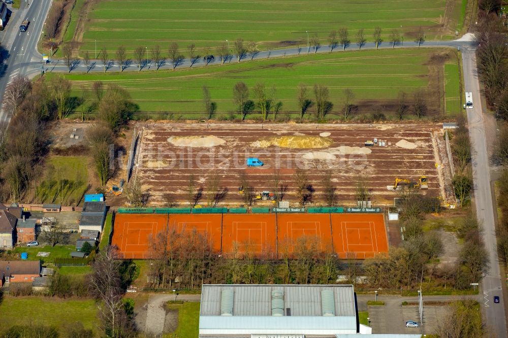
[{"label": "rectangular grass lawn in the lower left corner, below the brick house", "polygon": [[31,322],[58,328],[81,322],[85,328],[97,331],[97,306],[92,299],[5,296],[0,302],[0,322],[10,325]]}]

